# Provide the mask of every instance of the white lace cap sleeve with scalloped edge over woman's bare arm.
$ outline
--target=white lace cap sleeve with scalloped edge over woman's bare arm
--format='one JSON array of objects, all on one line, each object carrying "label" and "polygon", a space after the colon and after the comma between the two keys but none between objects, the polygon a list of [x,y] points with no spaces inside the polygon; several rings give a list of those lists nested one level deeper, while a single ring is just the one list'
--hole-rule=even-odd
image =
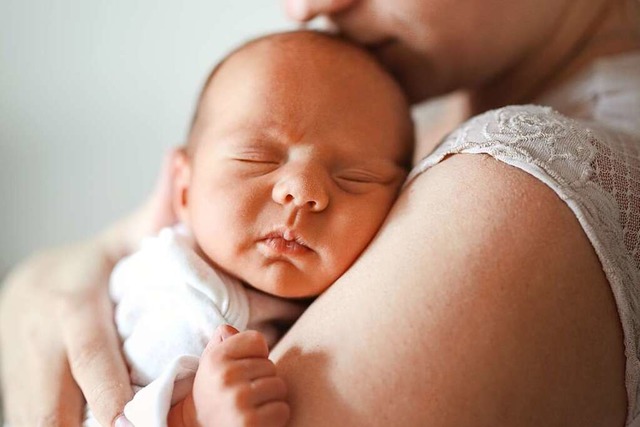
[{"label": "white lace cap sleeve with scalloped edge over woman's bare arm", "polygon": [[[567,203],[591,241],[616,300],[624,329],[631,423],[640,414],[640,193],[633,191],[640,191],[640,141],[607,132],[548,107],[489,111],[450,134],[414,168],[407,184],[449,154],[484,153],[535,176]],[[611,150],[614,143],[622,149]],[[635,152],[630,152],[631,145]]]}]

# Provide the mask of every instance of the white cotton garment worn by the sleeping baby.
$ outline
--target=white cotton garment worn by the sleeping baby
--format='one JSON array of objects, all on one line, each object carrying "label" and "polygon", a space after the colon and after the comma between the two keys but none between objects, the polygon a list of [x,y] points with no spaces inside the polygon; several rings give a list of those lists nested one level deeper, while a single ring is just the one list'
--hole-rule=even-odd
[{"label": "white cotton garment worn by the sleeping baby", "polygon": [[[191,390],[199,356],[221,324],[244,330],[243,285],[209,266],[183,227],[165,228],[119,262],[111,276],[115,321],[136,394],[124,409],[136,427],[166,426]],[[97,425],[89,418],[85,426]]]}]

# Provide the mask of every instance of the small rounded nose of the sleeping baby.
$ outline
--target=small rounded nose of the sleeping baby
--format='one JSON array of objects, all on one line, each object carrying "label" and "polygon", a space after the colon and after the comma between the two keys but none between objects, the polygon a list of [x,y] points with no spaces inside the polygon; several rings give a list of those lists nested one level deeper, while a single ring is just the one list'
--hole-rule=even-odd
[{"label": "small rounded nose of the sleeping baby", "polygon": [[283,206],[321,212],[329,204],[326,183],[320,172],[309,169],[290,171],[273,186],[273,200]]}]

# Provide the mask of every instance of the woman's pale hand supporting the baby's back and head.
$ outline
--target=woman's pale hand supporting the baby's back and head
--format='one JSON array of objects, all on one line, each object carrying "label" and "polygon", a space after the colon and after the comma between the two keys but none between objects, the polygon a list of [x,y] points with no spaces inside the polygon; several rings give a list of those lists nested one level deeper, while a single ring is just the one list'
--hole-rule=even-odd
[{"label": "woman's pale hand supporting the baby's back and head", "polygon": [[11,425],[79,426],[82,394],[98,421],[113,425],[131,398],[108,279],[144,235],[175,221],[175,157],[167,156],[153,195],[134,214],[88,241],[33,256],[7,278],[0,368]]}]

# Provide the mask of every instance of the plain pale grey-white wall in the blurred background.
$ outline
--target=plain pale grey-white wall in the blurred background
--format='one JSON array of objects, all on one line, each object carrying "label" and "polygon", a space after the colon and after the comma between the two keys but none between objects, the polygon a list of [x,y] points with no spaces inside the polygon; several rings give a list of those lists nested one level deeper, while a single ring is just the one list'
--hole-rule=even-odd
[{"label": "plain pale grey-white wall in the blurred background", "polygon": [[278,0],[0,1],[0,278],[130,211],[214,63]]}]

